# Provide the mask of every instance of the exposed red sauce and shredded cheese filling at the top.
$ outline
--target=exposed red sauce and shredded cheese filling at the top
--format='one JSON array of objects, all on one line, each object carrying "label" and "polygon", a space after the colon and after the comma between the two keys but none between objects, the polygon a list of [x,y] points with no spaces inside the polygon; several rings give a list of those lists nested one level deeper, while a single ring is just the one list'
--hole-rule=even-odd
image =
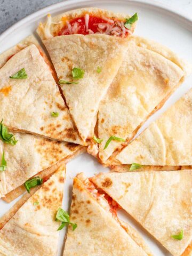
[{"label": "exposed red sauce and shredded cheese filling at the top", "polygon": [[116,18],[97,17],[86,13],[83,17],[66,21],[66,25],[59,31],[58,35],[72,34],[106,34],[112,36],[126,37],[131,34],[130,29],[125,27],[125,22]]}]

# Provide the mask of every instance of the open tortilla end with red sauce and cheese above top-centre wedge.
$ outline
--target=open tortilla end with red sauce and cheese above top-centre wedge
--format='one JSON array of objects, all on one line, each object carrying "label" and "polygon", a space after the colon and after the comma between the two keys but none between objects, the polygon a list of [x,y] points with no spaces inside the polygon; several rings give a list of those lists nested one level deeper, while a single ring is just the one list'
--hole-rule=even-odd
[{"label": "open tortilla end with red sauce and cheese above top-centre wedge", "polygon": [[[95,7],[71,10],[56,17],[47,15],[47,21],[40,23],[37,33],[42,40],[54,36],[71,34],[105,34],[126,37],[133,33],[137,15],[114,13]],[[125,23],[130,24],[126,26]],[[125,25],[125,26],[124,26]]]}]

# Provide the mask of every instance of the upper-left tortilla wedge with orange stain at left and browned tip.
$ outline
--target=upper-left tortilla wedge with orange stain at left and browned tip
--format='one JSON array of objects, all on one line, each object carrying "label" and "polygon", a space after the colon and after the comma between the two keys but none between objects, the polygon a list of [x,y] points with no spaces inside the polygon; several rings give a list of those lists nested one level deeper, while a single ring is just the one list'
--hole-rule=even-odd
[{"label": "upper-left tortilla wedge with orange stain at left and browned tip", "polygon": [[[0,57],[1,58],[1,57]],[[27,79],[11,79],[25,68]],[[35,45],[16,53],[0,69],[0,117],[12,129],[43,137],[83,143],[59,88]],[[51,112],[59,113],[52,117]]]}]

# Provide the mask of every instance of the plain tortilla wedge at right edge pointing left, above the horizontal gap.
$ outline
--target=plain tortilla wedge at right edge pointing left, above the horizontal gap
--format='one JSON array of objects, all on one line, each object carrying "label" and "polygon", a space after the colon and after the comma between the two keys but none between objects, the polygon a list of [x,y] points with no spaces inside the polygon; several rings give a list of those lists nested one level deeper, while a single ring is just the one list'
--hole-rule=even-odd
[{"label": "plain tortilla wedge at right edge pointing left, above the horizontal gap", "polygon": [[192,165],[192,89],[116,156],[118,163]]}]

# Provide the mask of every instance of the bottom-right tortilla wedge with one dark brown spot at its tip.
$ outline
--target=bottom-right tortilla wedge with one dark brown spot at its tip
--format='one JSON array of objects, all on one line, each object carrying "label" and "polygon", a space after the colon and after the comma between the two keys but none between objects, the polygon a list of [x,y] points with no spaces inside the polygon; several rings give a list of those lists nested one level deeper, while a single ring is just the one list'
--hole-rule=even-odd
[{"label": "bottom-right tortilla wedge with one dark brown spot at its tip", "polygon": [[[188,251],[192,239],[191,170],[101,173],[91,180],[174,256]],[[171,237],[181,230],[181,240]]]}]

